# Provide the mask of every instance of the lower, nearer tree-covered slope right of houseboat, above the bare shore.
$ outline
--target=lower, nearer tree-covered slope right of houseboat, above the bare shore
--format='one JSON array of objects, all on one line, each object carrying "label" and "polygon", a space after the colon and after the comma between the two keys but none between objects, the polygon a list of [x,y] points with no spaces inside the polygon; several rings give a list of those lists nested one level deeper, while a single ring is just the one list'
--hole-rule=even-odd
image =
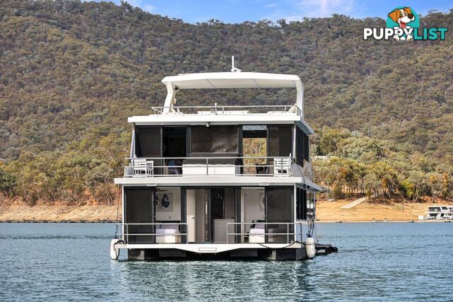
[{"label": "lower, nearer tree-covered slope right of houseboat, above the bare shore", "polygon": [[369,197],[406,197],[418,202],[430,195],[452,199],[453,167],[414,151],[408,144],[373,139],[347,129],[323,128],[317,136],[316,178],[338,199],[353,193]]}]

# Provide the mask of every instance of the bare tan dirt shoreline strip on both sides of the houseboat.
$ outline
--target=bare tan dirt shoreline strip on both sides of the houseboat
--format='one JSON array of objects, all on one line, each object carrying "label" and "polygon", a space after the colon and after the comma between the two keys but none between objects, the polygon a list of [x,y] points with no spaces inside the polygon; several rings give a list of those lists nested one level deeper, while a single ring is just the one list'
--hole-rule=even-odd
[{"label": "bare tan dirt shoreline strip on both sides of the houseboat", "polygon": [[[359,221],[418,221],[418,215],[426,215],[432,203],[363,202],[352,209],[340,209],[350,202],[319,201],[316,203],[316,218],[320,222]],[[440,202],[439,204],[443,204]],[[117,216],[118,211],[118,216]],[[121,219],[121,208],[116,205],[86,204],[36,204],[33,207],[23,203],[3,204],[0,207],[0,221],[116,221]]]}]

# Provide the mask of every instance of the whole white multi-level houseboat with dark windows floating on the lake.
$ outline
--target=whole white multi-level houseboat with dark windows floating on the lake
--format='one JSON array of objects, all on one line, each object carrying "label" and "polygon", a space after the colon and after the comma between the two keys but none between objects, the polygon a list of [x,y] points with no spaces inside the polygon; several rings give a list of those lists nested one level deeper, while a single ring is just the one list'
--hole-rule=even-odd
[{"label": "whole white multi-level houseboat with dark windows floating on the lake", "polygon": [[[164,107],[132,116],[110,257],[128,260],[315,256],[316,192],[298,76],[231,72],[162,80]],[[291,105],[177,106],[184,89],[294,88]],[[150,112],[151,113],[151,112]],[[246,148],[259,141],[262,156]]]}]

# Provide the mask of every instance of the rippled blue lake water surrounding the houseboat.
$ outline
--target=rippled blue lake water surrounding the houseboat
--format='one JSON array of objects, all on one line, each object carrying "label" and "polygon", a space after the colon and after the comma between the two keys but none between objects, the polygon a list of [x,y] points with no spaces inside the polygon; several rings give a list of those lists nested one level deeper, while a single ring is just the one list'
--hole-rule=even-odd
[{"label": "rippled blue lake water surrounding the houseboat", "polygon": [[453,299],[453,223],[319,223],[338,253],[294,262],[113,261],[113,233],[0,223],[0,301]]}]

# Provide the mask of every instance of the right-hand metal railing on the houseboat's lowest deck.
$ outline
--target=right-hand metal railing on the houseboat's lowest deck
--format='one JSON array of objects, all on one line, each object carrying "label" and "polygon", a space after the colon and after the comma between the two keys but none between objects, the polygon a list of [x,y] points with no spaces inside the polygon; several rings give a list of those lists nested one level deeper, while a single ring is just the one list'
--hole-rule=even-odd
[{"label": "right-hand metal railing on the houseboat's lowest deck", "polygon": [[[251,234],[250,232],[248,233],[230,233],[229,232],[229,226],[253,226],[256,224],[261,224],[263,226],[277,226],[277,229],[279,228],[278,226],[280,225],[285,225],[286,226],[286,232],[285,233],[270,233],[269,231],[266,232],[264,231],[263,233],[256,233],[256,234]],[[294,226],[294,231],[289,232],[289,226]],[[300,226],[300,233],[297,232],[297,227]],[[241,227],[242,228],[242,227]],[[253,229],[253,228],[251,228]],[[263,229],[263,228],[258,228],[258,229]],[[265,230],[264,228],[263,230]],[[268,228],[269,230],[270,228]],[[270,243],[268,240],[269,238],[275,238],[275,236],[286,236],[287,243],[290,243],[289,241],[289,236],[294,236],[293,240],[296,240],[296,236],[300,236],[302,240],[302,223],[299,222],[229,222],[226,223],[226,243],[229,243],[229,236],[244,236],[250,238],[250,236],[259,236],[258,238],[263,238],[263,243]],[[267,239],[267,240],[266,240]]]}]

